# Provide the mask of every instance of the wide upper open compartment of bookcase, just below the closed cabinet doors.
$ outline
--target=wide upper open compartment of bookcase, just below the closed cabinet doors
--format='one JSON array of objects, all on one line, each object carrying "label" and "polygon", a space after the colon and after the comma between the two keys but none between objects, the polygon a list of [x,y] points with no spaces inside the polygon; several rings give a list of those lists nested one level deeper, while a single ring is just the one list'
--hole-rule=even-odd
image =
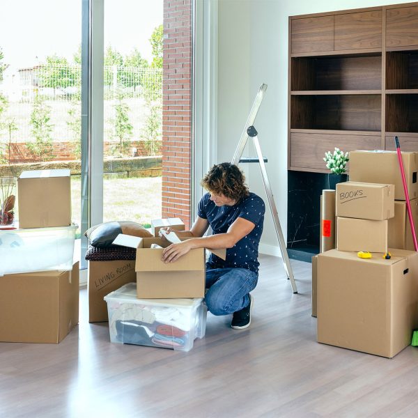
[{"label": "wide upper open compartment of bookcase, just below the closed cabinet doors", "polygon": [[380,90],[382,54],[291,59],[292,91]]}]

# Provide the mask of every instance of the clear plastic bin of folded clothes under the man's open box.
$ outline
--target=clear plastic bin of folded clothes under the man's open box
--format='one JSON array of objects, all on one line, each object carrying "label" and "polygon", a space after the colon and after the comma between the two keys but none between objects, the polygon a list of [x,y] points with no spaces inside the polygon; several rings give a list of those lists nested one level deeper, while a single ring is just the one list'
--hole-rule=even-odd
[{"label": "clear plastic bin of folded clothes under the man's open box", "polygon": [[189,351],[206,333],[203,299],[137,299],[128,283],[104,297],[112,343]]}]

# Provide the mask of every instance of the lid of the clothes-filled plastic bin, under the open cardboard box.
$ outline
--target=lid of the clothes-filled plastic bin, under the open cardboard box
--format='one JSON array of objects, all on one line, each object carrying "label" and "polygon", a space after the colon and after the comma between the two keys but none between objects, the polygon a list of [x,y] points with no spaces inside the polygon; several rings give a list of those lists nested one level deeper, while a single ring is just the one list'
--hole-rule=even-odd
[{"label": "lid of the clothes-filled plastic bin, under the open cardboard box", "polygon": [[104,296],[106,302],[119,302],[119,303],[134,303],[134,304],[149,304],[149,305],[164,305],[164,307],[196,307],[203,299],[138,299],[137,298],[137,284],[127,283],[124,284],[118,290],[109,293]]}]

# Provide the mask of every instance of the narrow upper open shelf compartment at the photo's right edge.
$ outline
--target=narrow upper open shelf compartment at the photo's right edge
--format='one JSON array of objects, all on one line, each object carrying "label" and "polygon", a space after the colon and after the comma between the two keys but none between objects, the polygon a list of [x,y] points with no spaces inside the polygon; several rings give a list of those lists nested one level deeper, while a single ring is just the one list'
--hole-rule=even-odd
[{"label": "narrow upper open shelf compartment at the photo's right edge", "polygon": [[418,51],[386,53],[387,90],[418,88]]}]

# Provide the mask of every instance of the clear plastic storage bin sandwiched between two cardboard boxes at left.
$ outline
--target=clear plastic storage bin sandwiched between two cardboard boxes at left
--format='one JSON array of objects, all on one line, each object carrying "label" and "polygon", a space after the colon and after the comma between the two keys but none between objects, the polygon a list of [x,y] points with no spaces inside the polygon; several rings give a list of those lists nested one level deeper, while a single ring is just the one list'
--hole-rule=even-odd
[{"label": "clear plastic storage bin sandwiched between two cardboard boxes at left", "polygon": [[0,276],[72,270],[77,225],[0,229]]}]

